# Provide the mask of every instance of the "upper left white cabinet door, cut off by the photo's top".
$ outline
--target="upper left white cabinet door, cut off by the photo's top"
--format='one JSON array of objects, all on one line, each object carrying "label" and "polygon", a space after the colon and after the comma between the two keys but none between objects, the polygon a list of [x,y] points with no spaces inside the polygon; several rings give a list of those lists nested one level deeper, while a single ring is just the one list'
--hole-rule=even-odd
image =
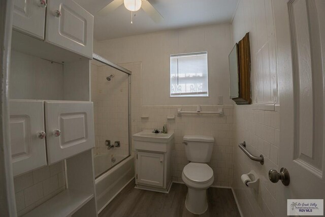
[{"label": "upper left white cabinet door, cut off by the photo's top", "polygon": [[46,0],[15,0],[13,27],[44,40]]}]

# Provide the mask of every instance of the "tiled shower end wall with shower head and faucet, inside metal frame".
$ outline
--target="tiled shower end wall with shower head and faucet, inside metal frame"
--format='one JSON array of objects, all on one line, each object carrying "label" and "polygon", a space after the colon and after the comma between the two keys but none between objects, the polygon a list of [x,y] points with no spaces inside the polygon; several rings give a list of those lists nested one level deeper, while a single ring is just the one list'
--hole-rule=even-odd
[{"label": "tiled shower end wall with shower head and faucet, inside metal frame", "polygon": [[[91,64],[91,100],[94,104],[95,152],[128,155],[128,76],[108,66]],[[114,75],[111,81],[107,76]],[[120,141],[110,150],[105,140]]]}]

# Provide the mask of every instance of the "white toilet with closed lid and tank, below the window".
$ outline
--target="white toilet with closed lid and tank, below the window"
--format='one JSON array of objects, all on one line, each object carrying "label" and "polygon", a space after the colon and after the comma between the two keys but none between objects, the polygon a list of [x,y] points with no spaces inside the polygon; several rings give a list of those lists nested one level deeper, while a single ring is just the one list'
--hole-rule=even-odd
[{"label": "white toilet with closed lid and tank, below the window", "polygon": [[190,161],[182,172],[182,179],[188,191],[185,206],[194,214],[202,214],[208,209],[207,189],[214,181],[210,162],[214,138],[203,135],[185,135],[183,137],[186,158]]}]

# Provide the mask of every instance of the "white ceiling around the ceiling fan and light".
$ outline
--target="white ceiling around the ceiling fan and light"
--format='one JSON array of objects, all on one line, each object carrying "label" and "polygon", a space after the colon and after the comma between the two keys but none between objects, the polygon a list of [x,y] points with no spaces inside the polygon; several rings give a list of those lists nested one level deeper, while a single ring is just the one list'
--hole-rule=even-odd
[{"label": "white ceiling around the ceiling fan and light", "polygon": [[121,5],[105,17],[96,15],[112,0],[75,0],[94,15],[98,41],[198,25],[230,23],[238,0],[148,0],[165,18],[155,23],[140,9],[131,24],[131,11]]}]

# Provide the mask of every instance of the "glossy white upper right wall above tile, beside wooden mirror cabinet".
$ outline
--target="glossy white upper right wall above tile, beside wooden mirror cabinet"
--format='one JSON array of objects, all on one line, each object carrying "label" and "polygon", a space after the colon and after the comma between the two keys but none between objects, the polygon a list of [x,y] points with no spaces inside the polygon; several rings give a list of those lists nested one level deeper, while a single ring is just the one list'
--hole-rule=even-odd
[{"label": "glossy white upper right wall above tile, beside wooden mirror cabinet", "polygon": [[252,103],[279,104],[272,0],[240,0],[232,23],[233,43],[250,37]]}]

